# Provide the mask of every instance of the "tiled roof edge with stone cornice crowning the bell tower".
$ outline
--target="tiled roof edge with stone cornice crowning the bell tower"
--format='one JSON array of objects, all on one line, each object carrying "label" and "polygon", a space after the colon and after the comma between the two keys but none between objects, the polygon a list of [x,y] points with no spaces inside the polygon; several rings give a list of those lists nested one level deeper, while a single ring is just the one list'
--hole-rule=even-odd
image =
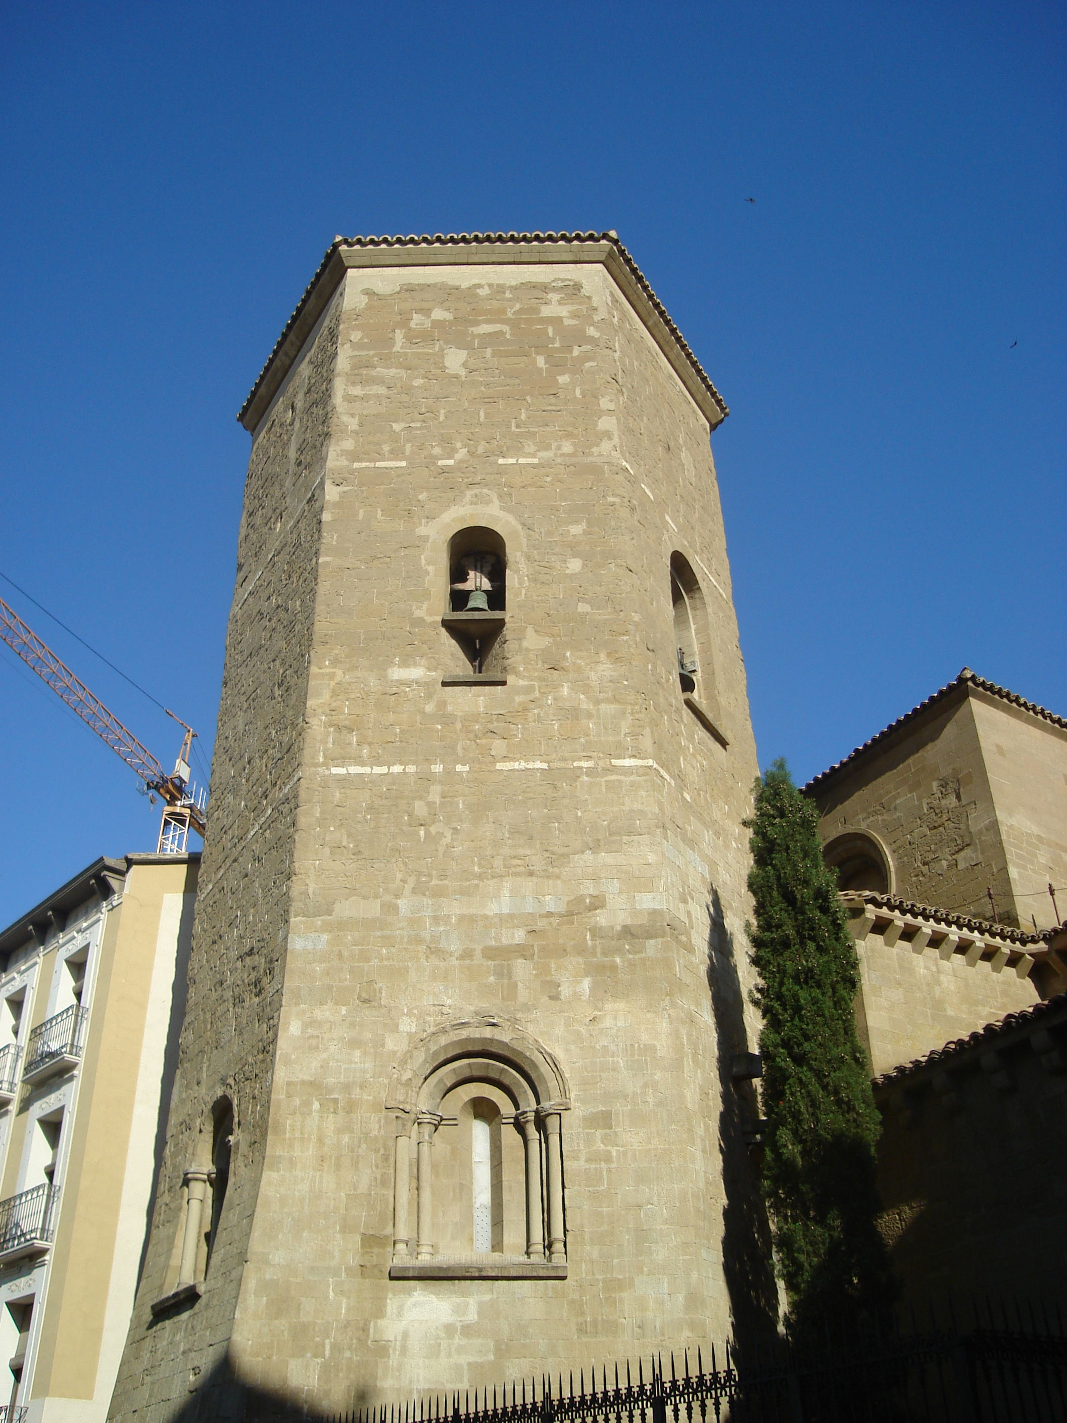
[{"label": "tiled roof edge with stone cornice crowning the bell tower", "polygon": [[505,262],[603,263],[711,428],[730,414],[726,401],[616,232],[435,232],[432,236],[334,238],[240,407],[238,420],[246,430],[256,428],[346,268]]}]

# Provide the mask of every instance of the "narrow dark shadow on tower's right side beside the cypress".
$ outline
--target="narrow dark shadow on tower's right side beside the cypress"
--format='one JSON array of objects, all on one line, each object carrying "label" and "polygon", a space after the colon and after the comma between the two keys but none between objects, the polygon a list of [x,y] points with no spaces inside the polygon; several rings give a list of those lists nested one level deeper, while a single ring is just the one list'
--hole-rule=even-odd
[{"label": "narrow dark shadow on tower's right side beside the cypress", "polygon": [[723,1271],[730,1294],[734,1338],[765,1340],[777,1332],[778,1289],[774,1281],[771,1228],[760,1194],[757,1147],[745,1141],[760,1117],[755,1087],[734,1079],[733,1059],[754,1052],[744,1026],[744,990],[737,972],[734,936],[726,926],[718,891],[707,904],[707,985],[716,1019],[718,1066],[718,1146],[723,1161]]}]

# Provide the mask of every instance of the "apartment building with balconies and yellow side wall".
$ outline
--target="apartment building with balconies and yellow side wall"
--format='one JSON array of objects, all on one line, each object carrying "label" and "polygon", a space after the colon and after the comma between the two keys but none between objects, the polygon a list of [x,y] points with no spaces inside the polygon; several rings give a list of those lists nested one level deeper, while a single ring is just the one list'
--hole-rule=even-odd
[{"label": "apartment building with balconies and yellow side wall", "polygon": [[0,932],[0,1423],[104,1423],[166,1124],[199,855],[94,861]]}]

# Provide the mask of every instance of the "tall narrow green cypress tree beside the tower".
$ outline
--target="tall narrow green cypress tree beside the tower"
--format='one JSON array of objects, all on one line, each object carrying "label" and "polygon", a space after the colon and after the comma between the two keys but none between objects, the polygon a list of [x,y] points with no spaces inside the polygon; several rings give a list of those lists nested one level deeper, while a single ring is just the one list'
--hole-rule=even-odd
[{"label": "tall narrow green cypress tree beside the tower", "polygon": [[871,1069],[855,1027],[859,982],[818,811],[784,761],[757,783],[748,888],[763,1013],[763,1180],[794,1336],[849,1323],[892,1298],[876,1228]]}]

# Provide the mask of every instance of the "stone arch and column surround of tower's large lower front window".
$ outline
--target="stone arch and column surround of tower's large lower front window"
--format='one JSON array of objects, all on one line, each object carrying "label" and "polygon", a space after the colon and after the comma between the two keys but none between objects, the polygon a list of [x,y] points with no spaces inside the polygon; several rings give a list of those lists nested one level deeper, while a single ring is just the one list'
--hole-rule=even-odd
[{"label": "stone arch and column surround of tower's large lower front window", "polygon": [[[518,1252],[438,1249],[442,1221],[434,1204],[434,1141],[442,1124],[455,1131],[464,1117],[462,1110],[458,1118],[447,1111],[455,1110],[448,1107],[450,1101],[464,1101],[465,1087],[471,1094],[497,1093],[506,1111],[506,1127],[516,1134],[511,1137],[516,1163],[512,1185],[514,1197],[522,1202],[518,1225],[525,1242]],[[390,1276],[563,1276],[562,1113],[569,1106],[566,1079],[555,1057],[518,1025],[495,1017],[464,1019],[434,1029],[415,1043],[394,1070],[386,1104],[396,1128]],[[445,1151],[445,1163],[451,1153],[455,1168],[462,1153],[457,1155],[454,1146]],[[454,1197],[455,1180],[451,1184]],[[447,1217],[445,1222],[455,1225]],[[455,1237],[455,1229],[451,1235]]]}]

